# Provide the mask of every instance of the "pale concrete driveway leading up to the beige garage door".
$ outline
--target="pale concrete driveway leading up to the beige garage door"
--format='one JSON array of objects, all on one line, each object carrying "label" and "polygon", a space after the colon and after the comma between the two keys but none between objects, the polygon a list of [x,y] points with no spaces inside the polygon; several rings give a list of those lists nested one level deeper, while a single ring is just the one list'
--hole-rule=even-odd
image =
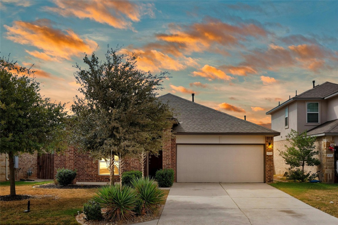
[{"label": "pale concrete driveway leading up to the beige garage door", "polygon": [[157,225],[180,224],[337,225],[338,219],[263,183],[174,183]]}]

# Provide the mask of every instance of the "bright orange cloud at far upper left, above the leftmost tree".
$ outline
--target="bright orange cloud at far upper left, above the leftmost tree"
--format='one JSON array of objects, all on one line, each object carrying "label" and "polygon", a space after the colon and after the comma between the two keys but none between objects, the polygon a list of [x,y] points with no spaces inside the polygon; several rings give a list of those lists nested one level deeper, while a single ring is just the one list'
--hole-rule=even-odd
[{"label": "bright orange cloud at far upper left, above the leftmost tree", "polygon": [[72,30],[66,30],[65,33],[53,29],[48,22],[43,20],[34,23],[15,21],[12,27],[7,25],[4,27],[7,30],[7,39],[41,49],[42,52],[27,50],[26,52],[43,60],[71,60],[72,56],[80,56],[83,52],[92,52],[97,47],[95,41],[83,40]]}]

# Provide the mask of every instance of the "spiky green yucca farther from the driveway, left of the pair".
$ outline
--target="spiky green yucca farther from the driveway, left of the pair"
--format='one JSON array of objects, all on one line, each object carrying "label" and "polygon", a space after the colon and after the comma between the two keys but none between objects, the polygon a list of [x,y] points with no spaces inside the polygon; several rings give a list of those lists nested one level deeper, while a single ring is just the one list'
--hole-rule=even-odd
[{"label": "spiky green yucca farther from the driveway, left of the pair", "polygon": [[135,216],[137,195],[130,187],[106,185],[98,190],[93,199],[104,208],[106,220],[126,221]]}]

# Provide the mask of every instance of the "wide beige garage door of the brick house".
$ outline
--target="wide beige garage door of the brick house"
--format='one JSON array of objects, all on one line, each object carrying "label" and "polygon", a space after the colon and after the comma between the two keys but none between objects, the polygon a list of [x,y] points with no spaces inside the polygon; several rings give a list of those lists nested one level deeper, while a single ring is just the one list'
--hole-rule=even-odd
[{"label": "wide beige garage door of the brick house", "polygon": [[177,145],[177,182],[264,182],[264,146]]}]

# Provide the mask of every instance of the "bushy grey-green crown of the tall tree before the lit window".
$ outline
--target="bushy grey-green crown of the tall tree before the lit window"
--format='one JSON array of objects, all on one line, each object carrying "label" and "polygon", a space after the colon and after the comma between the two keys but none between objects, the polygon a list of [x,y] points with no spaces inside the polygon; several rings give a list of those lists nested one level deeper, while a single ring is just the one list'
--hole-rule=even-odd
[{"label": "bushy grey-green crown of the tall tree before the lit window", "polygon": [[158,154],[164,129],[171,127],[172,113],[156,97],[167,72],[139,71],[136,60],[108,48],[104,62],[93,53],[83,59],[87,68],[75,66],[81,96],[72,105],[72,140],[94,159],[137,157],[142,149]]}]

